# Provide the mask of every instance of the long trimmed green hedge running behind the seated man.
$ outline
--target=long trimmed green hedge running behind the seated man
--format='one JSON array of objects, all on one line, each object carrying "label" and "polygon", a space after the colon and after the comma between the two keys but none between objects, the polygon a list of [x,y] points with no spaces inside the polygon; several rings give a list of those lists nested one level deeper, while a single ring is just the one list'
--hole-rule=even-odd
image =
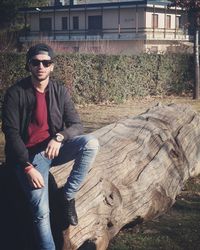
[{"label": "long trimmed green hedge running behind the seated man", "polygon": [[[28,74],[24,65],[25,54],[0,54],[1,94]],[[193,71],[193,57],[189,54],[58,54],[53,77],[68,86],[76,103],[98,103],[181,94],[191,90]]]}]

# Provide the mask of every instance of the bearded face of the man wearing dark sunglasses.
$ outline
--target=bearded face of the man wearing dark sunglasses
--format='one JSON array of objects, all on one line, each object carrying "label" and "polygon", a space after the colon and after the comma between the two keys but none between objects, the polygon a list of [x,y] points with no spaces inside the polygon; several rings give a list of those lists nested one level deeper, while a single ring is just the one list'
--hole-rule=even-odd
[{"label": "bearded face of the man wearing dark sunglasses", "polygon": [[54,65],[48,55],[38,54],[29,62],[29,70],[35,80],[46,80],[53,71]]}]

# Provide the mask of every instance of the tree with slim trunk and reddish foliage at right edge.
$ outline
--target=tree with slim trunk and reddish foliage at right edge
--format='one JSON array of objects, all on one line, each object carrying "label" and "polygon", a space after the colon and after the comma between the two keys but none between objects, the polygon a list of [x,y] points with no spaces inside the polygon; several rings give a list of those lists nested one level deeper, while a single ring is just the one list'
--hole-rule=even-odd
[{"label": "tree with slim trunk and reddish foliage at right edge", "polygon": [[200,0],[170,0],[170,6],[177,6],[185,9],[193,18],[195,35],[194,35],[194,58],[195,58],[195,82],[193,98],[199,99],[199,27],[200,27]]}]

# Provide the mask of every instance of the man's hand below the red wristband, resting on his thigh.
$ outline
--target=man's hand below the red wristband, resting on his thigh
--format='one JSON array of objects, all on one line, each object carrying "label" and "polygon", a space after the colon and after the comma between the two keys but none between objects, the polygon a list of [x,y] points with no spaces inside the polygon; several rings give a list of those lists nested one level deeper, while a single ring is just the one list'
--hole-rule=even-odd
[{"label": "man's hand below the red wristband, resting on his thigh", "polygon": [[26,173],[29,184],[33,188],[43,188],[44,187],[44,179],[40,172],[34,167],[31,168],[28,173]]}]

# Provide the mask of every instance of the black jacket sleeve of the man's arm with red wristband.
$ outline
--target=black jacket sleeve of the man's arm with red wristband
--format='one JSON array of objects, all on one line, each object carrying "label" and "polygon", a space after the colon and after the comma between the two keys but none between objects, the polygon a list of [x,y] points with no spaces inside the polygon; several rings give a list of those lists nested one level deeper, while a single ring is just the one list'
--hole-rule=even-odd
[{"label": "black jacket sleeve of the man's arm with red wristband", "polygon": [[2,131],[5,134],[9,155],[22,166],[27,166],[28,150],[20,136],[19,95],[16,89],[9,89],[4,97],[2,108]]}]

